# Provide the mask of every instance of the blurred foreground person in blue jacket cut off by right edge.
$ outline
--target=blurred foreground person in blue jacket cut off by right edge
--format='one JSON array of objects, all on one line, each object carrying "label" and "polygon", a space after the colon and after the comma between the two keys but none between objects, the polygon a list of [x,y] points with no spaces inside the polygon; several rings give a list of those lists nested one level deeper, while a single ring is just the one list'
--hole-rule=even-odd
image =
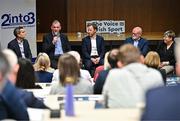
[{"label": "blurred foreground person in blue jacket cut off by right edge", "polygon": [[[180,76],[180,43],[177,43],[176,46],[176,58],[176,74]],[[177,86],[159,87],[149,90],[146,94],[146,108],[142,120],[179,121],[179,95],[179,84]]]}]

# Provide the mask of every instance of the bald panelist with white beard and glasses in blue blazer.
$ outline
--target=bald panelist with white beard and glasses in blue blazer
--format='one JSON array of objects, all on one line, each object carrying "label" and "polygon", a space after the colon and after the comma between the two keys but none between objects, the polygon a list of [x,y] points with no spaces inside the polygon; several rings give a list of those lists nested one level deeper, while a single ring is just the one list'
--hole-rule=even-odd
[{"label": "bald panelist with white beard and glasses in blue blazer", "polygon": [[142,35],[142,28],[141,27],[135,27],[132,30],[132,37],[129,37],[125,40],[126,43],[130,43],[137,48],[139,48],[141,54],[145,57],[149,50],[149,43],[146,39],[141,37]]}]

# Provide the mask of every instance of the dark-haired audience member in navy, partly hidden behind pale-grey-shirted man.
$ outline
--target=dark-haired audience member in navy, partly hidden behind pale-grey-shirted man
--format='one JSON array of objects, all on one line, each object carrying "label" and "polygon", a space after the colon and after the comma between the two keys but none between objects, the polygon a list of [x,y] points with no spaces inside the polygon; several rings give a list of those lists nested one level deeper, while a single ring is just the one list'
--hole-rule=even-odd
[{"label": "dark-haired audience member in navy, partly hidden behind pale-grey-shirted man", "polygon": [[109,73],[109,70],[117,67],[117,54],[118,54],[118,49],[112,49],[109,52],[109,54],[107,56],[107,61],[110,64],[110,68],[103,70],[99,73],[99,76],[95,80],[94,94],[102,94],[104,82],[105,82],[106,77]]}]

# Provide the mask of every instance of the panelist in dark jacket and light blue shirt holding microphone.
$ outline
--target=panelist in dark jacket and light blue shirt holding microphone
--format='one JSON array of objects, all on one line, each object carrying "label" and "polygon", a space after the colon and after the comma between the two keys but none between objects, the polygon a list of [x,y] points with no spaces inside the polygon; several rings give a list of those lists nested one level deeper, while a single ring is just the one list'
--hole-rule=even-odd
[{"label": "panelist in dark jacket and light blue shirt holding microphone", "polygon": [[51,60],[51,67],[56,69],[60,55],[70,51],[71,46],[67,36],[60,33],[61,24],[58,20],[54,20],[52,22],[51,30],[51,33],[43,36],[42,49],[49,55],[49,58]]}]

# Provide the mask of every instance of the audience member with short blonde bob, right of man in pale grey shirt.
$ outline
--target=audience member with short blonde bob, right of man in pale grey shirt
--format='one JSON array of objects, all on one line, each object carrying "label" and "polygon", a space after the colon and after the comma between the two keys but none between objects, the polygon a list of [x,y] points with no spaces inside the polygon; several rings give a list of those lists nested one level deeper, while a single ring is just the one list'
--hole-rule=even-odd
[{"label": "audience member with short blonde bob, right of man in pale grey shirt", "polygon": [[147,65],[148,67],[157,69],[164,80],[164,83],[166,84],[166,71],[165,69],[160,69],[160,57],[159,54],[155,51],[150,51],[148,52],[148,54],[146,55],[145,59],[144,59],[144,64]]}]

